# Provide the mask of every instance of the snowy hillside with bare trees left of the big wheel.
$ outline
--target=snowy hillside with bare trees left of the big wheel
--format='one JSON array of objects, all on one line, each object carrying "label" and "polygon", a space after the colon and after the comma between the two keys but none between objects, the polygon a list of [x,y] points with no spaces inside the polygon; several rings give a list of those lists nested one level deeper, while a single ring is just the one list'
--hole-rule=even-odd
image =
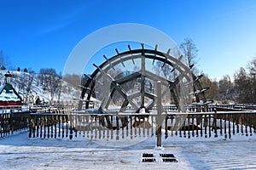
[{"label": "snowy hillside with bare trees left of the big wheel", "polygon": [[[0,85],[4,84],[4,74],[7,71],[1,71]],[[78,86],[62,80],[60,77],[52,75],[40,75],[36,73],[28,73],[23,71],[10,71],[12,78],[11,84],[20,94],[22,99],[28,94],[38,94],[40,99],[45,102],[51,100],[73,100],[80,97],[80,89]],[[79,85],[79,84],[78,84]]]}]

